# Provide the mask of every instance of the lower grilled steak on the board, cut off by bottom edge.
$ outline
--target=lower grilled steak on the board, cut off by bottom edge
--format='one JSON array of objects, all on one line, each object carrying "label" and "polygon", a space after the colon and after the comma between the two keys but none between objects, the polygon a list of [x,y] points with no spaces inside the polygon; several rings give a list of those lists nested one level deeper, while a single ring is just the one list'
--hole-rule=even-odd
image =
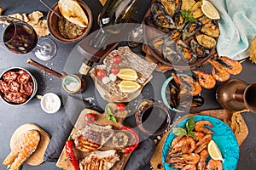
[{"label": "lower grilled steak on the board, cut off by bottom edge", "polygon": [[80,170],[108,170],[119,161],[116,150],[95,150],[79,162]]}]

